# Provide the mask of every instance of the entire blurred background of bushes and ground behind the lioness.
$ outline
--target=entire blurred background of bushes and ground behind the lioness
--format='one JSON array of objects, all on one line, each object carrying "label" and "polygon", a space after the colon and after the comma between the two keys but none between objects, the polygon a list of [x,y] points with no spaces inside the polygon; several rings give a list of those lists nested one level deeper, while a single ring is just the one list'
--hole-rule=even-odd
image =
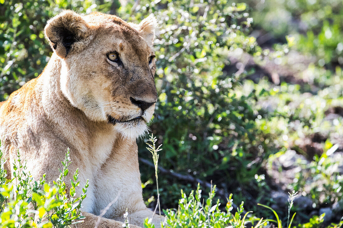
[{"label": "entire blurred background of bushes and ground behind the lioness", "polygon": [[[63,9],[153,14],[159,100],[151,130],[163,144],[163,208],[212,181],[225,201],[287,220],[343,214],[343,3],[339,0],[0,0],[0,99],[49,61],[46,21]],[[143,195],[156,205],[150,153],[140,145]],[[197,179],[198,178],[198,179]],[[330,214],[330,216],[329,216]],[[269,216],[269,217],[270,217]],[[311,227],[299,224],[298,227]]]}]

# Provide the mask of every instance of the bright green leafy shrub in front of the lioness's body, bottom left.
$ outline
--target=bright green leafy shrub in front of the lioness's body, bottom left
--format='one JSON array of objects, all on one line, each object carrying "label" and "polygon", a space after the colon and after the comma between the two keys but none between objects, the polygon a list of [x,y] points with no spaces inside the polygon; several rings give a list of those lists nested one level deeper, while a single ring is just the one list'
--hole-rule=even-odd
[{"label": "bright green leafy shrub in front of the lioness's body, bottom left", "polygon": [[76,196],[79,186],[78,170],[73,175],[71,188],[67,189],[64,177],[70,164],[69,151],[66,153],[63,169],[54,185],[45,183],[45,175],[34,180],[26,170],[25,162],[18,153],[13,164],[13,179],[6,179],[5,160],[0,152],[0,227],[56,227],[64,228],[80,223],[84,217],[80,214],[82,200],[86,197],[88,182],[83,194]]}]

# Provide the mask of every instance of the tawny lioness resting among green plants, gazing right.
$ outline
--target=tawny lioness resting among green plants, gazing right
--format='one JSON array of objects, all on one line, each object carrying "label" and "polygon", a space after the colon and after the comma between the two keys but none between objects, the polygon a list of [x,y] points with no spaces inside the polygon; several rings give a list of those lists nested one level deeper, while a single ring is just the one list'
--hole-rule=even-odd
[{"label": "tawny lioness resting among green plants, gazing right", "polygon": [[[54,53],[43,73],[1,103],[8,174],[19,150],[33,177],[46,174],[52,183],[70,148],[69,177],[79,168],[80,186],[89,179],[86,218],[77,227],[94,227],[118,194],[99,228],[121,228],[126,208],[131,227],[153,215],[142,199],[136,138],[146,131],[157,101],[157,27],[154,17],[137,25],[114,15],[63,11],[45,27]],[[158,216],[153,223],[160,227]]]}]

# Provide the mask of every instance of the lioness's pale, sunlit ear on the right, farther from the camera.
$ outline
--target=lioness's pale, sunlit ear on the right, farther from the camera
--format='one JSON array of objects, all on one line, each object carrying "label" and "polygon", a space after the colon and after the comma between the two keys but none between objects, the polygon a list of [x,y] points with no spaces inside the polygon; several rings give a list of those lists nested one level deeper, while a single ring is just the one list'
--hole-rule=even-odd
[{"label": "lioness's pale, sunlit ear on the right, farther from the camera", "polygon": [[149,45],[153,45],[155,36],[159,32],[156,17],[150,15],[141,21],[138,25],[138,32]]}]

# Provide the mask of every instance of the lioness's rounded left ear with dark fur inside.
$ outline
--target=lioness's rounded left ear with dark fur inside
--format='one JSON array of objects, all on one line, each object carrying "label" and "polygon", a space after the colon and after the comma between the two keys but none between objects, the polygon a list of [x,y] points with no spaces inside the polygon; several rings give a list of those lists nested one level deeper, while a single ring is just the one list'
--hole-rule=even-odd
[{"label": "lioness's rounded left ear with dark fur inside", "polygon": [[52,17],[45,26],[45,37],[51,48],[61,58],[70,50],[81,49],[90,37],[87,23],[82,16],[71,10],[64,10]]}]

